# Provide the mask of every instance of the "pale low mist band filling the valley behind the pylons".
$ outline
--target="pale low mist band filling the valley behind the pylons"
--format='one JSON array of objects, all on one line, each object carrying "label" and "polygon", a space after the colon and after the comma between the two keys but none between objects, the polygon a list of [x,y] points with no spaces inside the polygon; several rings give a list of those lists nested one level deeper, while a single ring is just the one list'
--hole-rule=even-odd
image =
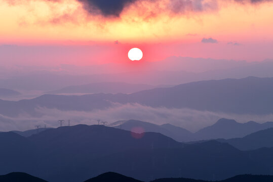
[{"label": "pale low mist band filling the valley behind the pylons", "polygon": [[[35,125],[48,127],[58,127],[59,119],[68,120],[70,124],[97,124],[97,119],[112,123],[118,120],[136,119],[151,122],[154,124],[171,123],[190,131],[197,131],[203,127],[214,124],[220,118],[235,119],[238,122],[250,120],[256,122],[266,122],[273,120],[273,114],[251,115],[251,114],[227,114],[209,111],[198,111],[192,109],[170,109],[152,108],[139,104],[115,104],[115,107],[105,110],[94,110],[91,112],[83,111],[60,111],[57,109],[36,108],[36,112],[41,113],[42,117],[32,117],[27,114],[20,116],[6,117],[0,115],[0,128],[2,131],[34,129]],[[64,123],[67,125],[67,122]]]}]

